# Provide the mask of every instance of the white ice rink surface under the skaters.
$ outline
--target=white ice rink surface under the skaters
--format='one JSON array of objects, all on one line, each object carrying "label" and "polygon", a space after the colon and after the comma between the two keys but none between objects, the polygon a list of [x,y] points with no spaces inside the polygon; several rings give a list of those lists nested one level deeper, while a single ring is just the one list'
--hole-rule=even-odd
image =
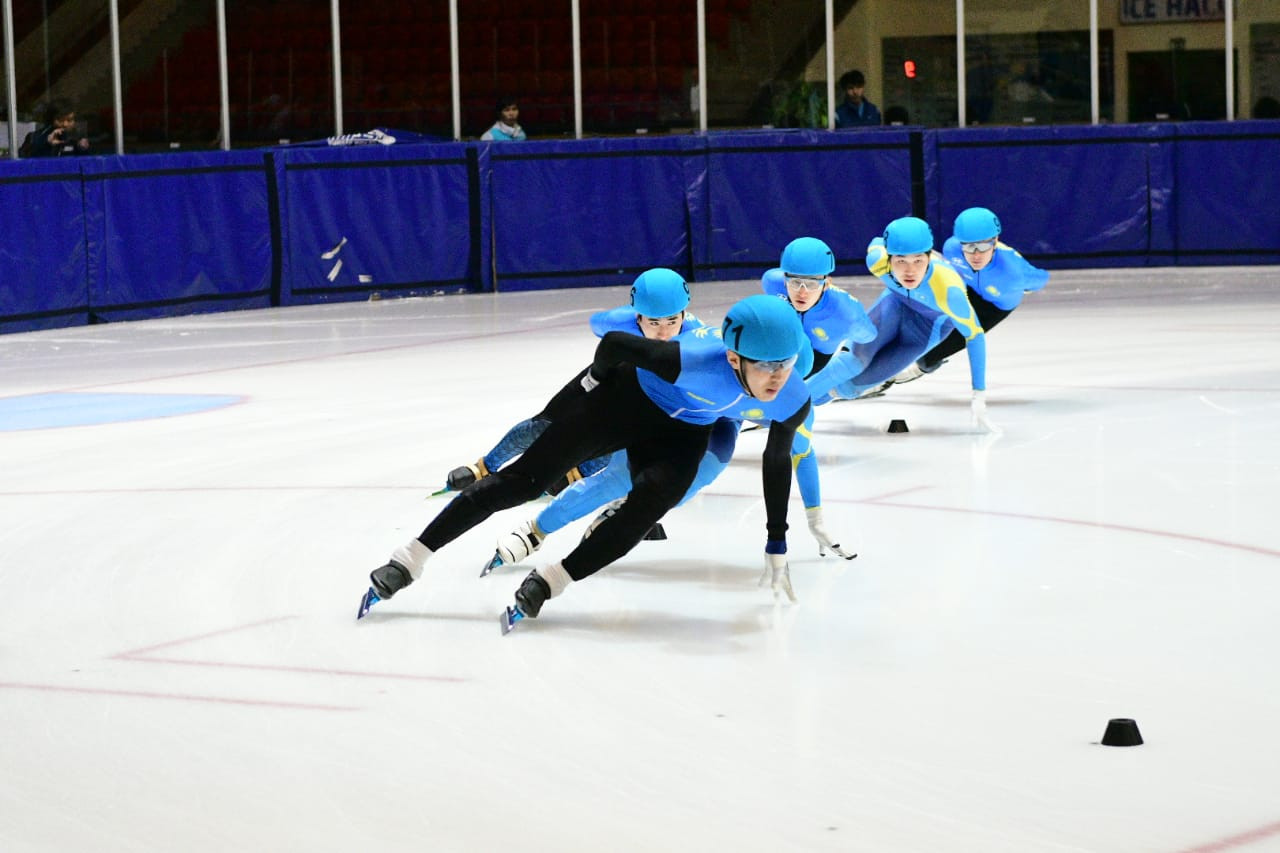
[{"label": "white ice rink surface under the skaters", "polygon": [[[527,569],[477,574],[538,503],[356,605],[623,289],[3,336],[0,850],[1277,850],[1277,277],[1055,273],[989,339],[1002,435],[963,356],[819,410],[860,556],[794,496],[797,605],[755,432],[508,637]],[[41,425],[101,394],[232,400]]]}]

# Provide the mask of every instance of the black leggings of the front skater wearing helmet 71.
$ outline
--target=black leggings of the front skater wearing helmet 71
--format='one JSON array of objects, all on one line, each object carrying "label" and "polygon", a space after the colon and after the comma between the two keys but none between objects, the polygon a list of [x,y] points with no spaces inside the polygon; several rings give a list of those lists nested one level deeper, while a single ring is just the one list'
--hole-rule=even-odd
[{"label": "black leggings of the front skater wearing helmet 71", "polygon": [[626,503],[564,557],[564,570],[581,580],[631,551],[680,502],[710,429],[668,416],[645,396],[635,369],[620,368],[590,393],[558,401],[556,419],[520,459],[465,488],[417,539],[438,551],[494,512],[532,501],[575,465],[626,448]]}]

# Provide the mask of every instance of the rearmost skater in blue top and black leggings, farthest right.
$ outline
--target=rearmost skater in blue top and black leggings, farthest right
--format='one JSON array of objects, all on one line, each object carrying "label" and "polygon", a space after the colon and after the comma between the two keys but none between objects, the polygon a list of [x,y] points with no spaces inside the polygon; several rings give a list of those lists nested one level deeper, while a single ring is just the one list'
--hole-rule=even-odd
[{"label": "rearmost skater in blue top and black leggings, farthest right", "polygon": [[[1012,246],[1006,246],[1000,240],[1001,231],[995,213],[987,207],[969,207],[956,216],[951,237],[942,245],[943,257],[969,287],[969,304],[988,333],[1012,314],[1024,293],[1039,291],[1048,283],[1048,272],[1028,263]],[[951,332],[888,384],[911,382],[933,373],[964,346],[964,336]]]}]

